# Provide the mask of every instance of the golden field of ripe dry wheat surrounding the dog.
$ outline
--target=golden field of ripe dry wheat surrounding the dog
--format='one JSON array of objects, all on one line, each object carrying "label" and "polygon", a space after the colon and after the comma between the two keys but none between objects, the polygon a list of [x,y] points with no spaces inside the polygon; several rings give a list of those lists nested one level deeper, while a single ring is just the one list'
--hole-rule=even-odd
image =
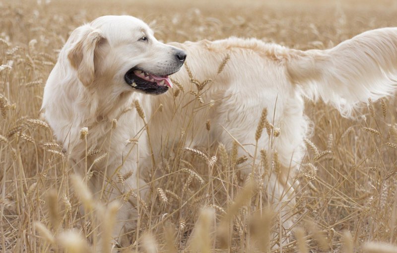
[{"label": "golden field of ripe dry wheat surrounding the dog", "polygon": [[[1,252],[96,252],[99,238],[112,242],[117,205],[106,195],[96,199],[72,176],[67,151],[40,119],[46,79],[77,26],[101,15],[129,14],[147,22],[163,42],[239,36],[305,50],[396,26],[396,11],[393,0],[1,1]],[[345,119],[321,102],[307,102],[314,129],[290,210],[291,231],[283,231],[281,214],[267,208],[260,187],[265,176],[251,175],[253,183],[240,175],[238,168],[250,165],[236,156],[237,147],[168,147],[157,171],[146,175],[150,197],[120,196],[121,202],[137,202],[139,216],[128,234],[131,245],[119,251],[397,252],[396,105],[394,98],[369,101],[354,119]],[[257,117],[260,122],[260,112]],[[176,130],[183,135],[188,129]],[[331,152],[319,158],[322,151]],[[87,155],[94,163],[106,158],[94,149]],[[277,166],[262,155],[264,165]],[[108,183],[129,176],[118,174]]]}]

